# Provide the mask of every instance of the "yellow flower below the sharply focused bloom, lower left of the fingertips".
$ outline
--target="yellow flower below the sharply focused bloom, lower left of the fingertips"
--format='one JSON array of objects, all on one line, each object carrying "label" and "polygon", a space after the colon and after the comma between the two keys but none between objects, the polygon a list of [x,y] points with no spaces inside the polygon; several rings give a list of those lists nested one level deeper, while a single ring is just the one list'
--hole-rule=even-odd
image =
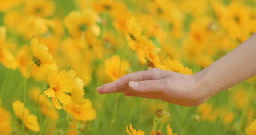
[{"label": "yellow flower below the sharply focused bloom, lower left of the fingertips", "polygon": [[92,108],[92,103],[89,99],[84,99],[84,103],[81,105],[73,102],[64,105],[64,110],[77,120],[92,121],[96,118],[96,111]]}]

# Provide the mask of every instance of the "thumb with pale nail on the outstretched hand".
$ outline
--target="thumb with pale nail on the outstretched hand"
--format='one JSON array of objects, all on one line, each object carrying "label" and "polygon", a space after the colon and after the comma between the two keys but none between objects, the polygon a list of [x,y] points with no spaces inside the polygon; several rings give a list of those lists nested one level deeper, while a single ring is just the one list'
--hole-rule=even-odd
[{"label": "thumb with pale nail on the outstretched hand", "polygon": [[146,80],[146,81],[129,81],[129,87],[140,93],[147,92],[162,92],[164,87],[166,87],[166,82],[164,79],[160,80]]}]

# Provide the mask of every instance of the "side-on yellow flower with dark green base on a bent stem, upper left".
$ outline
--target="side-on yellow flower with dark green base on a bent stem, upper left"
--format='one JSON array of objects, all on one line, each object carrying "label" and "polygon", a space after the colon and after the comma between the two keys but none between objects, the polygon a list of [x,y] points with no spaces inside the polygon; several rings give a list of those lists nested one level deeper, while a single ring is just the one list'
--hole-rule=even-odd
[{"label": "side-on yellow flower with dark green base on a bent stem, upper left", "polygon": [[48,52],[48,47],[44,44],[39,44],[37,39],[31,40],[31,50],[34,56],[33,61],[38,67],[54,64],[52,55]]}]

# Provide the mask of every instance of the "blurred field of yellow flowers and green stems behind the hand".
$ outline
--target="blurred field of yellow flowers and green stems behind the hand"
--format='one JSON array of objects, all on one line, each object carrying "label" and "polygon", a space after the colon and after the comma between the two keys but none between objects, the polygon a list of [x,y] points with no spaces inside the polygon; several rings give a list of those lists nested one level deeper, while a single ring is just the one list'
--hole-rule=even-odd
[{"label": "blurred field of yellow flowers and green stems behind the hand", "polygon": [[[256,135],[255,77],[197,107],[96,91],[154,67],[196,73],[254,32],[255,0],[0,0],[1,135],[128,135],[129,124],[145,135],[172,135],[167,125],[177,135]],[[51,69],[33,64],[34,38],[59,72],[76,72],[86,104],[58,110],[40,94]],[[35,123],[17,116],[16,100]]]}]

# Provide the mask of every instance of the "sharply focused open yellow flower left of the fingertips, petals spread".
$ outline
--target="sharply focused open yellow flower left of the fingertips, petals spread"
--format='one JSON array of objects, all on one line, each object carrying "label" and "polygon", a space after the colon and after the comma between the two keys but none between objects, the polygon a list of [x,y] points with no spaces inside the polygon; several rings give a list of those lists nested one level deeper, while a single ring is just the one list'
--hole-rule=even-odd
[{"label": "sharply focused open yellow flower left of the fingertips, petals spread", "polygon": [[58,73],[57,67],[52,67],[50,75],[48,75],[47,82],[49,88],[44,91],[44,94],[52,98],[52,102],[57,109],[61,109],[59,101],[67,105],[71,102],[72,97],[67,93],[71,93],[74,88],[73,71],[60,71]]}]

